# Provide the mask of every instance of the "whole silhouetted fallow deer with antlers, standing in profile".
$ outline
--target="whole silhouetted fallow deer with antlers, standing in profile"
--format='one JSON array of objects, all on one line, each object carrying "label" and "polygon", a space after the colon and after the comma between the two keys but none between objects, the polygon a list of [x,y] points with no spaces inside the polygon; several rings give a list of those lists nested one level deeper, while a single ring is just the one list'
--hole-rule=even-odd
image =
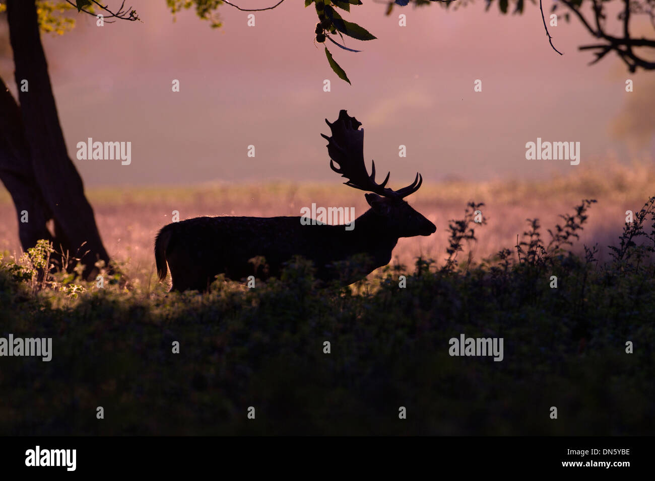
[{"label": "whole silhouetted fallow deer with antlers, standing in profile", "polygon": [[[327,119],[326,119],[327,122]],[[365,194],[371,208],[355,219],[354,230],[342,225],[302,225],[301,217],[196,217],[164,226],[155,240],[159,279],[166,278],[166,262],[173,280],[172,291],[206,291],[217,274],[234,280],[257,275],[278,277],[284,262],[300,255],[312,260],[316,277],[353,283],[385,266],[398,238],[429,236],[436,227],[412,209],[403,198],[416,192],[423,181],[400,190],[375,183],[375,162],[368,175],[364,164],[364,130],[345,110],[330,124],[327,139],[330,167],[348,179],[346,185],[373,192]],[[335,167],[334,162],[339,164]],[[312,222],[312,224],[315,224]],[[364,255],[364,265],[344,278],[339,261]],[[255,272],[252,258],[263,256],[267,272]],[[341,264],[343,265],[343,264]]]}]

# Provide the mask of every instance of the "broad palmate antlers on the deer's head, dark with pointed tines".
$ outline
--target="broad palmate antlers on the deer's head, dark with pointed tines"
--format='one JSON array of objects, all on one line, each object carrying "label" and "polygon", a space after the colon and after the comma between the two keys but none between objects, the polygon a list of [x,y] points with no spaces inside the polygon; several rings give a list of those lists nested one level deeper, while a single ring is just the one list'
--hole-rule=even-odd
[{"label": "broad palmate antlers on the deer's head, dark with pointed tines", "polygon": [[[364,163],[364,130],[360,130],[362,122],[351,117],[345,110],[339,111],[339,118],[333,123],[329,123],[326,118],[327,126],[332,131],[332,136],[321,134],[327,140],[327,153],[330,156],[330,168],[341,174],[341,177],[348,179],[345,185],[375,192],[384,197],[398,198],[409,196],[421,187],[423,178],[420,173],[416,174],[414,182],[407,187],[398,190],[392,190],[386,186],[389,181],[390,172],[386,174],[383,183],[375,182],[375,162],[372,162],[371,175],[366,170]],[[334,162],[339,164],[335,167]]]}]

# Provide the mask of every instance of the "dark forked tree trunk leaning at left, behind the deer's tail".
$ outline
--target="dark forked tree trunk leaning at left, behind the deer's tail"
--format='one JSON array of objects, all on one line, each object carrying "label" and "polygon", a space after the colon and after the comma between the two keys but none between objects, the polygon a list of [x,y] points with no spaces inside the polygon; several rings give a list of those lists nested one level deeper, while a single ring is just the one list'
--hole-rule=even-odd
[{"label": "dark forked tree trunk leaning at left, behind the deer's tail", "polygon": [[[81,258],[84,277],[92,277],[96,261],[108,264],[109,255],[84,196],[82,179],[66,151],[35,2],[8,0],[7,19],[20,108],[3,83],[0,125],[10,126],[10,131],[0,130],[0,177],[16,205],[20,241],[28,249],[39,238],[50,239],[56,250]],[[26,92],[22,80],[28,80]],[[28,223],[20,222],[24,210]],[[54,221],[54,237],[45,225],[48,219]]]}]

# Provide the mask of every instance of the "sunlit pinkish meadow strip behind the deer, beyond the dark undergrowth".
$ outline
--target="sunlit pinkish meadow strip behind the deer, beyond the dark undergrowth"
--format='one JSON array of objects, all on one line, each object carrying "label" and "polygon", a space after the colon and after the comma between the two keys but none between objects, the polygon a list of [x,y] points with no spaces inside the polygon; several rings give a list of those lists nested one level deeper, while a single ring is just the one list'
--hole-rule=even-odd
[{"label": "sunlit pinkish meadow strip behind the deer, beyond the dark undergrowth", "polygon": [[[411,265],[419,255],[440,262],[448,242],[447,223],[459,219],[467,202],[483,202],[487,225],[470,245],[477,260],[516,244],[527,228],[526,219],[540,219],[544,228],[559,221],[583,198],[598,200],[574,251],[582,244],[599,243],[599,259],[607,260],[607,245],[616,241],[626,210],[637,211],[655,192],[652,162],[631,166],[607,163],[601,168],[573,169],[569,177],[547,181],[499,179],[483,183],[424,183],[409,203],[437,226],[430,238],[401,239],[394,257]],[[126,274],[140,283],[155,283],[153,242],[157,231],[170,223],[172,211],[179,219],[199,215],[300,215],[312,202],[324,206],[353,206],[361,215],[368,205],[364,194],[345,185],[204,185],[188,188],[102,188],[88,191],[96,222],[109,255],[125,264]],[[0,192],[0,252],[20,255],[16,213],[6,191]]]}]

